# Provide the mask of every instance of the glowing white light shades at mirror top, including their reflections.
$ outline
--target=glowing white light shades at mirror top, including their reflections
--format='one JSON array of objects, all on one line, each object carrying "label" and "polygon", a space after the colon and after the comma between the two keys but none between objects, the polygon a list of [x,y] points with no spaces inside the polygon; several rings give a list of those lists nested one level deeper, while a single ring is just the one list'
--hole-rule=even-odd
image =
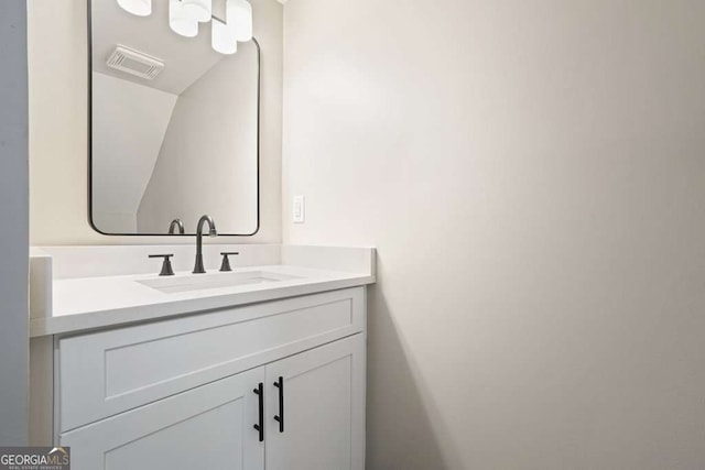
[{"label": "glowing white light shades at mirror top, including their reflections", "polygon": [[[152,13],[152,0],[117,0],[139,17]],[[235,54],[238,42],[252,39],[252,6],[247,0],[225,0],[225,20],[213,15],[213,0],[169,0],[169,26],[185,37],[198,35],[198,23],[210,21],[210,45],[220,54]]]}]

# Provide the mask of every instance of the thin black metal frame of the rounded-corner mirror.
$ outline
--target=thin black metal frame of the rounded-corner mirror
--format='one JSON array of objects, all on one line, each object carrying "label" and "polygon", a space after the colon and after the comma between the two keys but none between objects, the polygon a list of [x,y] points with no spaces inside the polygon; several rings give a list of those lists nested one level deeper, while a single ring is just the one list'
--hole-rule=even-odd
[{"label": "thin black metal frame of the rounded-corner mirror", "polygon": [[[196,233],[108,233],[100,230],[93,220],[93,0],[87,0],[88,11],[88,225],[96,232],[108,237],[195,237]],[[98,0],[105,1],[105,0]],[[261,226],[261,184],[260,184],[260,149],[262,128],[262,52],[257,37],[252,36],[252,43],[257,51],[257,226],[251,233],[220,233],[218,237],[252,237],[260,231]],[[217,223],[217,220],[216,220]]]}]

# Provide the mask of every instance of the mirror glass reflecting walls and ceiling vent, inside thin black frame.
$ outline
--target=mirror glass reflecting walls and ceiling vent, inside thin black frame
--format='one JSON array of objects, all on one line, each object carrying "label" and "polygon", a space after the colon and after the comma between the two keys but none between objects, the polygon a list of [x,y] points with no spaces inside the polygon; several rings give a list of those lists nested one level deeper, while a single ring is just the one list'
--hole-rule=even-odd
[{"label": "mirror glass reflecting walls and ceiling vent, inside thin black frame", "polygon": [[194,234],[205,214],[219,234],[258,230],[259,45],[214,51],[215,22],[185,37],[170,28],[166,0],[152,1],[149,17],[91,0],[90,220],[99,232],[163,236],[181,220]]}]

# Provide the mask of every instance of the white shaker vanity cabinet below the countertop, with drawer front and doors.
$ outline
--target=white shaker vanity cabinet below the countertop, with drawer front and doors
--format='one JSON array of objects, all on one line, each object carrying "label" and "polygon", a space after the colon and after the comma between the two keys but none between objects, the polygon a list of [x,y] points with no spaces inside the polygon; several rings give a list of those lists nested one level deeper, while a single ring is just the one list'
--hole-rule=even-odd
[{"label": "white shaker vanity cabinet below the countertop, with drawer front and doors", "polygon": [[365,468],[365,287],[56,338],[75,470]]}]

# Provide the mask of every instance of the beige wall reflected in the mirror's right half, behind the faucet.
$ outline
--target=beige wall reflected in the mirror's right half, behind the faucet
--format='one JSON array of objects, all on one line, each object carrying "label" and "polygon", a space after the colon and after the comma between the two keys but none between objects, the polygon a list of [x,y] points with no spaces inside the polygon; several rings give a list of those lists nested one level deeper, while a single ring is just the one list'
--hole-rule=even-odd
[{"label": "beige wall reflected in the mirror's right half, behind the faucet", "polygon": [[219,233],[257,231],[257,46],[240,44],[178,97],[141,198],[142,233],[180,218],[194,233],[210,215]]}]

